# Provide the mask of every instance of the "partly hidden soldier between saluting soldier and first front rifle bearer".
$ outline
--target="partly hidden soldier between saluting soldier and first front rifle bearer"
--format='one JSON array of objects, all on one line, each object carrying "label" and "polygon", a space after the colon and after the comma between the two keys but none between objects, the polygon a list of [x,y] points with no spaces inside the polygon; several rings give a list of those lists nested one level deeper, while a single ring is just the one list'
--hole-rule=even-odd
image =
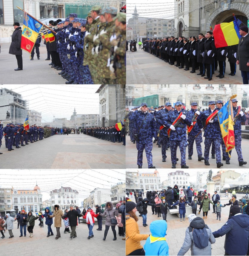
[{"label": "partly hidden soldier between saluting soldier and first front rifle bearer", "polygon": [[[163,119],[167,116],[167,114],[171,111],[171,103],[165,102],[165,108],[161,111],[158,111],[156,116],[156,122],[160,126],[163,126]],[[166,162],[166,150],[168,149],[168,129],[166,127],[160,130],[160,140],[162,145],[162,162]]]}]

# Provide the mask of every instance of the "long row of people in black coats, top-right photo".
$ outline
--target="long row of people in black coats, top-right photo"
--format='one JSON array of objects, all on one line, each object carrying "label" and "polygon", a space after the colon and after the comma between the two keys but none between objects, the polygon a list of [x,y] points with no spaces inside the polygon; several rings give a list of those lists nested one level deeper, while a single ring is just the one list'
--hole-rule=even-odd
[{"label": "long row of people in black coats, top-right photo", "polygon": [[[248,27],[241,26],[239,34],[247,39]],[[207,31],[205,35],[199,33],[196,37],[190,36],[189,38],[185,38],[183,36],[171,36],[163,39],[145,40],[139,43],[142,44],[143,47],[141,49],[145,52],[153,54],[169,65],[176,66],[185,71],[191,68],[190,73],[197,73],[196,70],[199,70],[197,75],[208,79],[208,81],[212,80],[218,66],[219,74],[216,77],[225,77],[226,60],[228,60],[230,64],[230,73],[228,75],[234,76],[236,74],[236,65],[239,65],[243,84],[248,84],[249,68],[247,65],[246,47],[248,47],[249,40],[242,43],[243,39],[241,37],[239,44],[219,48],[216,48],[214,42],[213,32]],[[134,49],[133,51],[137,50],[135,40],[130,43],[130,51],[132,49]]]}]

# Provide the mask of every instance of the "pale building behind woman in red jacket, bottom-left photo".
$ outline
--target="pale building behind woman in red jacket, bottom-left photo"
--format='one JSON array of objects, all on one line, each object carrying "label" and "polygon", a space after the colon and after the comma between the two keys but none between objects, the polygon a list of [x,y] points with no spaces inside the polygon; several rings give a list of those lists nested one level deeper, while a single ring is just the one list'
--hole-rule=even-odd
[{"label": "pale building behind woman in red jacket, bottom-left photo", "polygon": [[91,207],[94,208],[95,205],[103,205],[106,202],[111,202],[110,197],[110,189],[104,189],[104,188],[95,188],[90,192],[90,196],[88,196],[86,199],[84,199],[83,202],[81,202],[81,206],[83,208]]}]

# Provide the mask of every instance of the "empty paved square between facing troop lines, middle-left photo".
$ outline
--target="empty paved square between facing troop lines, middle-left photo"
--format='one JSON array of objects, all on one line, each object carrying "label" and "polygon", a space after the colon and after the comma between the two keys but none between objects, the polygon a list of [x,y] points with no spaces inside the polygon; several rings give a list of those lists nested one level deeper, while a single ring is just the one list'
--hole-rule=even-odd
[{"label": "empty paved square between facing troop lines, middle-left photo", "polygon": [[53,135],[8,151],[2,139],[2,169],[124,169],[125,147],[85,134]]}]

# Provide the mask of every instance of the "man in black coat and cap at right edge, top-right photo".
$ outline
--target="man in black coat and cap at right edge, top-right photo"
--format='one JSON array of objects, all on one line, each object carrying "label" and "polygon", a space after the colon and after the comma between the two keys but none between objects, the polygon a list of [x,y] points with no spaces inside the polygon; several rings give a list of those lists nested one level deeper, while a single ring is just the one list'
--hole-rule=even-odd
[{"label": "man in black coat and cap at right edge, top-right photo", "polygon": [[239,70],[241,71],[241,76],[243,79],[243,84],[249,84],[249,36],[248,27],[241,26],[239,34],[242,36],[239,39],[236,64],[239,65]]}]

